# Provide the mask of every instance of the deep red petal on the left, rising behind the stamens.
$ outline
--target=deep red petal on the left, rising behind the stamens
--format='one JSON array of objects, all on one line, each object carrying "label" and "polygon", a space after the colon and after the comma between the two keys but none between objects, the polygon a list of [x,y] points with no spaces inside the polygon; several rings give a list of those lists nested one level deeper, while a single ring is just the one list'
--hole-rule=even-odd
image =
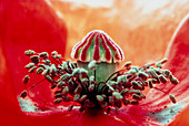
[{"label": "deep red petal on the left, rising behind the stamens", "polygon": [[[63,20],[44,1],[18,2],[2,1],[0,10],[0,41],[8,67],[3,78],[3,86],[14,84],[16,94],[23,91],[22,77],[27,74],[24,65],[29,59],[24,55],[28,49],[41,51],[54,51],[64,54],[67,29]],[[36,78],[38,82],[41,78]],[[11,81],[11,82],[9,82]],[[34,82],[33,82],[34,83]],[[33,101],[40,105],[53,102],[49,95],[50,85],[37,86],[31,92],[36,93]],[[4,88],[3,88],[4,90]],[[37,93],[39,92],[39,93]],[[31,93],[29,93],[31,94]],[[10,94],[2,94],[1,96]]]}]

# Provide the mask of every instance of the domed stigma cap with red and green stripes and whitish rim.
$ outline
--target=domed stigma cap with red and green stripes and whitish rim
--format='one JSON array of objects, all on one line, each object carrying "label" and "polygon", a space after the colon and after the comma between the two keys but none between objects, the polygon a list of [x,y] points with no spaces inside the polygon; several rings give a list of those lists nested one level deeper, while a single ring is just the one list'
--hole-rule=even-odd
[{"label": "domed stigma cap with red and green stripes and whitish rim", "polygon": [[77,43],[71,56],[81,62],[97,61],[118,63],[125,59],[122,50],[101,30],[89,32],[81,42]]}]

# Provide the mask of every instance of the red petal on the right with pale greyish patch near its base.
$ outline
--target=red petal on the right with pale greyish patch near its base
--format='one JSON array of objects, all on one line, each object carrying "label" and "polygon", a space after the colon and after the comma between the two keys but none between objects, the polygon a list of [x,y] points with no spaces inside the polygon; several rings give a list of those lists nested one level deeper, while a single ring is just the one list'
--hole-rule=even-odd
[{"label": "red petal on the right with pale greyish patch near its base", "polygon": [[[180,83],[178,85],[166,84],[157,86],[166,93],[157,90],[151,90],[145,101],[138,106],[125,107],[117,117],[126,123],[141,124],[141,125],[162,125],[158,122],[168,124],[172,120],[173,116],[188,104],[189,95],[189,14],[181,21],[169,49],[166,57],[168,62],[165,69],[172,72],[178,77]],[[173,105],[169,99],[169,94],[173,94],[178,101]],[[173,112],[171,112],[171,109]],[[183,112],[180,117],[186,116]],[[129,122],[131,120],[131,122]],[[172,123],[175,124],[175,123]],[[185,123],[182,124],[185,125]]]}]

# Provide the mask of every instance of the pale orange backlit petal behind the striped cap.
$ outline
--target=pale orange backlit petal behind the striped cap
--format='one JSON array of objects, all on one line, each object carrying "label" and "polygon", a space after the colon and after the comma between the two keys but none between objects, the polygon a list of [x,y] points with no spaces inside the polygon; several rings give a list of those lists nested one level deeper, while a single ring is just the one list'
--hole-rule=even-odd
[{"label": "pale orange backlit petal behind the striped cap", "polygon": [[125,53],[120,65],[127,61],[137,65],[159,61],[175,29],[189,10],[189,1],[179,0],[89,1],[51,0],[53,8],[63,13],[68,25],[66,59],[71,59],[71,49],[88,32],[103,30]]}]

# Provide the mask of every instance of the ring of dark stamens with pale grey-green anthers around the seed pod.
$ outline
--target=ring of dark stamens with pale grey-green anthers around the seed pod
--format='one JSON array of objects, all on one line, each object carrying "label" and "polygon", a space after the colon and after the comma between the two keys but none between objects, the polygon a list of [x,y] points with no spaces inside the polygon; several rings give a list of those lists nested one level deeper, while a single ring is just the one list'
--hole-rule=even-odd
[{"label": "ring of dark stamens with pale grey-green anthers around the seed pod", "polygon": [[[93,71],[93,74],[89,74],[87,69],[64,61],[56,51],[48,54],[28,50],[26,55],[30,57],[31,63],[26,65],[29,74],[23,77],[23,83],[29,83],[30,74],[39,74],[44,78],[23,91],[21,97],[24,98],[30,90],[47,80],[51,83],[51,88],[56,88],[54,104],[77,102],[80,104],[80,112],[99,108],[107,109],[108,114],[115,107],[118,113],[121,106],[138,105],[146,98],[142,94],[146,87],[156,88],[156,84],[166,84],[168,81],[175,85],[179,83],[169,70],[161,69],[161,64],[167,60],[141,67],[127,62],[123,67],[101,82],[97,80],[97,74],[106,73],[96,73],[94,61],[88,64],[88,70]],[[176,103],[173,95],[170,95],[170,99]],[[72,108],[73,105],[70,105],[68,111]]]}]

